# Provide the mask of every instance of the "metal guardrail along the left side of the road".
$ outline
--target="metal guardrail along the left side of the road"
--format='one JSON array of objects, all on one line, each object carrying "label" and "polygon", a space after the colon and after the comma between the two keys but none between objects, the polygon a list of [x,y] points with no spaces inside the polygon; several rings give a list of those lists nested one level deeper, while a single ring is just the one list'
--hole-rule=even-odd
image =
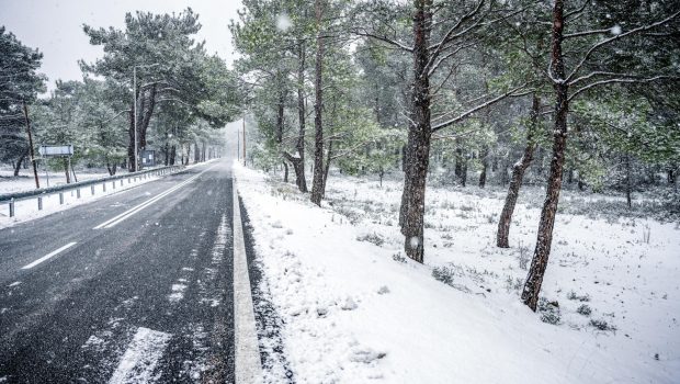
[{"label": "metal guardrail along the left side of the road", "polygon": [[116,176],[112,176],[107,178],[86,180],[86,181],[80,181],[77,183],[61,184],[61,185],[56,185],[56,187],[50,187],[50,188],[41,188],[37,190],[33,190],[33,191],[3,193],[3,194],[0,194],[0,204],[8,204],[10,206],[10,217],[14,217],[16,213],[14,203],[18,201],[37,199],[37,208],[38,211],[42,211],[43,210],[43,197],[48,196],[48,195],[58,193],[59,204],[64,204],[64,192],[76,190],[76,195],[78,199],[80,199],[80,190],[87,187],[90,187],[90,191],[92,192],[92,194],[94,194],[94,187],[98,184],[102,184],[103,192],[106,192],[106,183],[109,182],[112,182],[111,187],[115,189],[115,182],[118,180],[121,181],[121,185],[123,185],[124,179],[127,179],[127,183],[131,183],[132,179],[136,181],[137,178],[146,179],[149,176],[169,174],[169,173],[173,173],[179,170],[182,170],[183,168],[184,168],[183,166],[167,166],[167,167],[147,169],[144,171],[138,171],[138,172],[116,174]]}]

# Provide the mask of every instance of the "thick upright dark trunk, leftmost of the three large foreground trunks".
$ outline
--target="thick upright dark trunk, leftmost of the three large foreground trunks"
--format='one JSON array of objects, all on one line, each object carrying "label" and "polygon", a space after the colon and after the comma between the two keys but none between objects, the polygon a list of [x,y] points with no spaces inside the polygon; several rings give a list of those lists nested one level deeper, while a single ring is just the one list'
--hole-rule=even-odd
[{"label": "thick upright dark trunk, leftmost of the three large foreground trunks", "polygon": [[407,158],[404,169],[404,194],[399,223],[405,237],[404,250],[417,262],[423,261],[424,196],[430,162],[430,78],[428,52],[432,21],[429,0],[416,1],[413,14],[413,84]]}]

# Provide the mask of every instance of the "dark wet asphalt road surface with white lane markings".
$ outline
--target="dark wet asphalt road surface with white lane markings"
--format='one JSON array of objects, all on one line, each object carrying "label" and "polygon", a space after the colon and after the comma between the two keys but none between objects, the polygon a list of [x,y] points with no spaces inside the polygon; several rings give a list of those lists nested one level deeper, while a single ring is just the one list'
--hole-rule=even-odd
[{"label": "dark wet asphalt road surface with white lane markings", "polygon": [[233,217],[222,160],[0,229],[0,383],[234,382]]}]

